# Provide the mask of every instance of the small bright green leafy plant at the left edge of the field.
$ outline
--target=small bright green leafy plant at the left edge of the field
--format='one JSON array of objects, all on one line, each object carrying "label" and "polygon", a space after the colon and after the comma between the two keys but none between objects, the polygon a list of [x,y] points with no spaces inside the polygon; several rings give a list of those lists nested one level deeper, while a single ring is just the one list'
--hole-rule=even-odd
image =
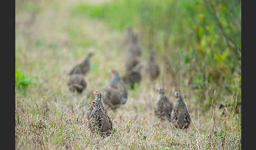
[{"label": "small bright green leafy plant at the left edge of the field", "polygon": [[30,84],[32,84],[32,82],[28,77],[25,76],[23,70],[15,70],[15,88],[24,93]]}]

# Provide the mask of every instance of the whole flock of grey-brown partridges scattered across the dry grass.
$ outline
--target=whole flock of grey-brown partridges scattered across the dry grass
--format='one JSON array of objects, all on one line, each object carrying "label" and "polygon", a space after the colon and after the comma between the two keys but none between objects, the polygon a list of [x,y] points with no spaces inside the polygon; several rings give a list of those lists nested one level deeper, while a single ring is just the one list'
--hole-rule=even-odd
[{"label": "whole flock of grey-brown partridges scattered across the dry grass", "polygon": [[[87,110],[88,128],[92,133],[100,134],[105,137],[113,133],[113,123],[107,113],[107,109],[115,110],[120,105],[124,105],[128,99],[127,86],[134,88],[135,83],[139,84],[142,75],[141,68],[144,67],[140,62],[141,47],[137,41],[137,35],[132,28],[127,29],[125,39],[125,50],[127,52],[125,68],[126,73],[120,77],[117,70],[111,70],[113,75],[109,85],[104,87],[103,93],[95,90],[95,100],[90,102]],[[68,89],[71,92],[82,93],[86,87],[85,76],[90,71],[90,58],[94,55],[89,52],[84,61],[76,66],[68,74]],[[155,81],[160,74],[160,68],[154,60],[155,51],[151,51],[149,61],[145,65],[145,70],[152,81]],[[176,99],[175,105],[169,101],[162,88],[157,89],[160,97],[155,104],[154,113],[161,121],[169,121],[175,128],[188,128],[191,122],[189,110],[186,107],[182,96],[174,92]]]}]

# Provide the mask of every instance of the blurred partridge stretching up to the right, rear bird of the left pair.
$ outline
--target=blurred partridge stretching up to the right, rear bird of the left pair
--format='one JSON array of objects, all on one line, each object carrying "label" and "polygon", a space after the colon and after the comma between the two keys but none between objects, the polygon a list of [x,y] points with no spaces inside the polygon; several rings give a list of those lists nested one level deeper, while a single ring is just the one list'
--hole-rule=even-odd
[{"label": "blurred partridge stretching up to the right, rear bird of the left pair", "polygon": [[86,58],[84,59],[84,61],[76,65],[75,67],[73,67],[73,69],[70,71],[70,73],[68,73],[68,75],[73,74],[76,68],[79,68],[82,71],[82,74],[86,76],[86,74],[90,71],[90,65],[91,65],[90,58],[93,56],[93,54],[94,54],[93,52],[89,52]]}]

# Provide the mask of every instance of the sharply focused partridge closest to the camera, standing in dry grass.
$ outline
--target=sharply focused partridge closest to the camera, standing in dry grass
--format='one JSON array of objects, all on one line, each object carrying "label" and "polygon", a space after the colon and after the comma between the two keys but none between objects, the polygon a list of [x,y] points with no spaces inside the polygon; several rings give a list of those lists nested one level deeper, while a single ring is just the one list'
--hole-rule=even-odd
[{"label": "sharply focused partridge closest to the camera, standing in dry grass", "polygon": [[93,110],[88,119],[88,128],[92,133],[98,133],[103,137],[109,136],[113,133],[111,118],[103,112],[96,101],[92,101],[90,104]]}]

